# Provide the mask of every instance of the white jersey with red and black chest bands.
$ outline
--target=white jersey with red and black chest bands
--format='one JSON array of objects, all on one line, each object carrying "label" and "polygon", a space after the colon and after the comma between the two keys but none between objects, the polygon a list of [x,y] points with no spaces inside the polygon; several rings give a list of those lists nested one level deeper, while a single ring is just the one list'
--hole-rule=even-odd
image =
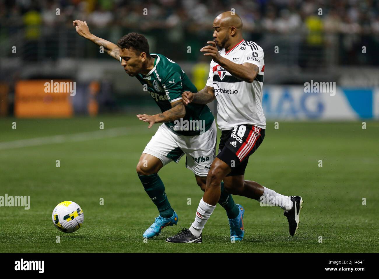
[{"label": "white jersey with red and black chest bands", "polygon": [[262,109],[262,87],[265,63],[263,49],[252,41],[242,40],[228,52],[219,51],[222,57],[237,64],[252,63],[259,73],[251,83],[233,77],[222,66],[211,61],[207,86],[213,87],[216,96],[217,124],[220,130],[230,130],[236,125],[250,124],[266,128]]}]

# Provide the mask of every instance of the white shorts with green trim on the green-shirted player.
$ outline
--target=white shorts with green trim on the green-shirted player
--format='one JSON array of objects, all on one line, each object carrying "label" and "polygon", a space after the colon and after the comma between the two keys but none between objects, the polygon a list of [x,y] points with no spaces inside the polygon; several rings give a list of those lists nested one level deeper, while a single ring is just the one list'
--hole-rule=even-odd
[{"label": "white shorts with green trim on the green-shirted player", "polygon": [[143,153],[157,157],[163,166],[172,161],[179,163],[180,158],[186,154],[187,169],[197,176],[206,177],[216,158],[216,142],[215,121],[208,131],[197,136],[179,136],[163,123],[147,143]]}]

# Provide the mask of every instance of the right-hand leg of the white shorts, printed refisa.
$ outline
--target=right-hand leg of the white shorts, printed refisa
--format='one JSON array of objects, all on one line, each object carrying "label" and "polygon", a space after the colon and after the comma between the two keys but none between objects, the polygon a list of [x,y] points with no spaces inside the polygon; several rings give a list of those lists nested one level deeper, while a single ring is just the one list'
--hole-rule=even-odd
[{"label": "right-hand leg of the white shorts, printed refisa", "polygon": [[208,131],[192,137],[182,137],[179,146],[186,154],[186,168],[199,177],[207,177],[216,158],[217,128],[215,122]]}]

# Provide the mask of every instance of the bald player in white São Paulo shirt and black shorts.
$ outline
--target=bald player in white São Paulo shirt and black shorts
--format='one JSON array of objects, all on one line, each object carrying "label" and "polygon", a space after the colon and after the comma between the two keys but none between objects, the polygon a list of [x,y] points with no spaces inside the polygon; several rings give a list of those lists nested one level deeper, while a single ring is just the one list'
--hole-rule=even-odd
[{"label": "bald player in white S\u00e3o Paulo shirt and black shorts", "polygon": [[[242,38],[242,20],[231,12],[220,14],[213,22],[214,41],[200,51],[211,56],[207,85],[197,93],[183,92],[183,102],[206,104],[218,101],[217,123],[221,130],[219,153],[207,175],[204,196],[197,208],[195,221],[189,229],[166,239],[171,243],[202,242],[202,230],[216,207],[220,184],[230,194],[242,195],[284,210],[293,236],[298,229],[302,204],[300,196],[285,196],[254,181],[244,180],[249,156],[257,150],[265,137],[266,118],[262,109],[262,87],[265,71],[262,47]],[[216,48],[218,45],[221,50]],[[244,236],[241,205],[236,218],[229,219],[234,230],[231,241]],[[231,234],[232,235],[232,234]]]}]

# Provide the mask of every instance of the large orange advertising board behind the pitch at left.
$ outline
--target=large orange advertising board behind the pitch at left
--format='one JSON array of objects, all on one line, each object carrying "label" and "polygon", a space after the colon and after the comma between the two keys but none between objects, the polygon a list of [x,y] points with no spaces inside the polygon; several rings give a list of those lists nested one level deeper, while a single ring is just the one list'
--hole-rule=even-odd
[{"label": "large orange advertising board behind the pitch at left", "polygon": [[16,117],[71,117],[70,95],[75,95],[71,80],[20,80],[16,84]]}]

